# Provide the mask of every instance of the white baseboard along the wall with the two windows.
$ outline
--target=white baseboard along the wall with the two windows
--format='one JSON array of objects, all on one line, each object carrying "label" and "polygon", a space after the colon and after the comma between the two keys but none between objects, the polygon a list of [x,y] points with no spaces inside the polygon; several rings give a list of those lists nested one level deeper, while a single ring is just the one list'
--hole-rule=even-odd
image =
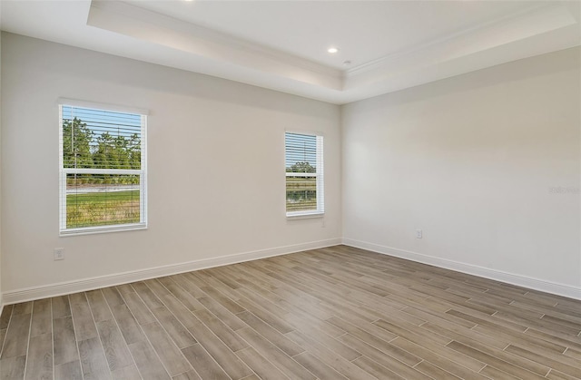
[{"label": "white baseboard along the wall with the two windows", "polygon": [[73,281],[60,282],[41,287],[26,287],[7,291],[0,295],[4,300],[4,305],[11,305],[19,302],[32,301],[46,297],[57,297],[65,294],[78,293],[101,287],[113,287],[115,285],[127,284],[135,281],[143,281],[150,278],[175,275],[192,270],[205,268],[222,267],[224,265],[236,264],[244,261],[251,261],[260,258],[271,258],[274,256],[287,255],[289,253],[300,252],[302,250],[325,248],[341,244],[341,239],[327,239],[311,241],[308,243],[295,244],[278,248],[260,249],[250,252],[242,252],[233,255],[225,255],[219,258],[203,258],[180,264],[172,264],[157,268],[146,268],[133,270],[130,272],[116,273],[113,275],[99,276],[94,278],[84,278]]}]

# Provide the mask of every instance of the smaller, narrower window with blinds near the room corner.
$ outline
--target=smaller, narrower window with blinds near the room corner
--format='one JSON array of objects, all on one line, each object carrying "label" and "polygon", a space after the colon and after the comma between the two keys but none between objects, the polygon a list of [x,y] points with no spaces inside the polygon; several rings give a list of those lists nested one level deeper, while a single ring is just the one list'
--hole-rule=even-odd
[{"label": "smaller, narrower window with blinds near the room corner", "polygon": [[323,137],[285,133],[287,217],[324,213]]}]

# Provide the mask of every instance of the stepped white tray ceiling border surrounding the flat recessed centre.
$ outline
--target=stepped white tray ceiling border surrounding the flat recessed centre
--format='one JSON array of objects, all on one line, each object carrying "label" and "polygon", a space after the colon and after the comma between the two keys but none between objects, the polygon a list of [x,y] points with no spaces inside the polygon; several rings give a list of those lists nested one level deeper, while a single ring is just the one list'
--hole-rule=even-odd
[{"label": "stepped white tray ceiling border surrounding the flat recessed centre", "polygon": [[[337,68],[277,50],[278,45],[271,49],[272,45],[252,44],[251,40],[236,34],[204,27],[202,21],[188,23],[179,19],[178,14],[164,14],[164,6],[154,8],[157,11],[142,6],[145,5],[138,0],[4,2],[1,26],[6,32],[57,44],[335,104],[356,102],[581,45],[581,3],[542,0],[541,4],[527,2],[511,6],[510,9],[520,11],[505,12],[494,19],[487,17],[487,22],[457,28],[456,34],[411,45],[379,60]],[[228,5],[223,6],[229,9]],[[389,5],[386,6],[389,10]],[[495,15],[500,13],[496,11]],[[413,23],[416,18],[416,14],[411,14],[404,21]],[[38,23],[39,19],[44,22]],[[311,23],[316,21],[310,20]],[[431,29],[424,26],[426,33],[422,35],[426,41]],[[268,28],[264,29],[264,33],[269,32]],[[278,33],[285,35],[284,30]],[[374,35],[381,37],[381,34]],[[369,46],[372,43],[373,39],[361,41]]]}]

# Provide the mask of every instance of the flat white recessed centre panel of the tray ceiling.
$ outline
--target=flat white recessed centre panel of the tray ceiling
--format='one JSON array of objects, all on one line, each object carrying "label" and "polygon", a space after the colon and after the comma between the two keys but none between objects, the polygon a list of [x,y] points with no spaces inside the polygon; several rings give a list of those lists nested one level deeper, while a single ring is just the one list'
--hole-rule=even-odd
[{"label": "flat white recessed centre panel of the tray ceiling", "polygon": [[[139,6],[340,70],[535,5],[517,2],[145,2]],[[243,15],[243,16],[241,16]],[[410,23],[410,20],[413,22]],[[418,27],[422,25],[422,27]],[[331,45],[339,54],[328,54]]]}]

